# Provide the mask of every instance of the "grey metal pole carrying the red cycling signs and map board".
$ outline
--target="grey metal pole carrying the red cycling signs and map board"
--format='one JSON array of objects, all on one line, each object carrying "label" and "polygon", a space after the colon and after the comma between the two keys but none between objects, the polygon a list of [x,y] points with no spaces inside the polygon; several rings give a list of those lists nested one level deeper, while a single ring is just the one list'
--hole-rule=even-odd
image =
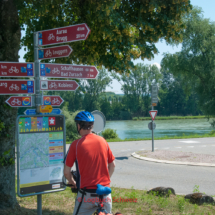
[{"label": "grey metal pole carrying the red cycling signs and map board", "polygon": [[[38,32],[34,32],[34,65],[35,65],[35,105],[36,112],[40,113],[41,94],[40,94],[40,68],[38,60]],[[42,215],[42,195],[37,195],[37,215]]]}]

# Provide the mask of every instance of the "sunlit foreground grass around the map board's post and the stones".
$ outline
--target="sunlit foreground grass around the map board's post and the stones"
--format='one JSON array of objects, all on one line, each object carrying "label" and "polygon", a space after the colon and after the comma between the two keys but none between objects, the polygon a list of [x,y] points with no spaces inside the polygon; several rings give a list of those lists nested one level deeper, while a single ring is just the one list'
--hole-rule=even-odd
[{"label": "sunlit foreground grass around the map board's post and the stones", "polygon": [[[69,188],[63,192],[55,192],[42,195],[43,215],[69,215],[74,208],[76,195]],[[121,199],[120,199],[121,198]],[[165,215],[200,215],[215,214],[213,205],[193,205],[184,199],[183,196],[170,195],[170,197],[159,197],[154,194],[147,194],[143,190],[123,189],[112,187],[113,208],[112,212],[121,212],[123,215],[142,214],[165,214]],[[122,202],[123,199],[123,202]],[[126,201],[124,201],[126,199]],[[37,214],[37,197],[17,196],[20,208],[7,211],[0,210],[4,215]],[[136,202],[135,202],[136,201]]]}]

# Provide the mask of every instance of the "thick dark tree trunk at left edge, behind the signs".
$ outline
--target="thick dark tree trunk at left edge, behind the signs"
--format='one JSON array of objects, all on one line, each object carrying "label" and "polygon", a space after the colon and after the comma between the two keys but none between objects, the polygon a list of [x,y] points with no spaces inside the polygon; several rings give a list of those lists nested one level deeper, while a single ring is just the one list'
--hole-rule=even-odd
[{"label": "thick dark tree trunk at left edge, behind the signs", "polygon": [[[21,29],[15,1],[0,0],[0,61],[18,62]],[[17,205],[14,164],[17,108],[9,107],[5,103],[7,98],[0,96],[0,209]]]}]

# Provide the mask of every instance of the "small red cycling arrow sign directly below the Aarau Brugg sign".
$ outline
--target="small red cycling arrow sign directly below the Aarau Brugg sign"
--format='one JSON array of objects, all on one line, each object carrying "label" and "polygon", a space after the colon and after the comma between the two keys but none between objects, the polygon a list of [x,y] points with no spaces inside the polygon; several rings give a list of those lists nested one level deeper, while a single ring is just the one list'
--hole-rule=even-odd
[{"label": "small red cycling arrow sign directly below the Aarau Brugg sign", "polygon": [[69,45],[56,46],[51,48],[39,49],[38,59],[51,59],[59,57],[68,57],[72,53],[72,48]]}]

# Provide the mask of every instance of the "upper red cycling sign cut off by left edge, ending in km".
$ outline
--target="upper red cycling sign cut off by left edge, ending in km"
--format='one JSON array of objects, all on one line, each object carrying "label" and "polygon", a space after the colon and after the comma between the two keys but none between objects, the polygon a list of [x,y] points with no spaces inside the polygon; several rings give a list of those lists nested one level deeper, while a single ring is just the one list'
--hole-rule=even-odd
[{"label": "upper red cycling sign cut off by left edge, ending in km", "polygon": [[0,77],[34,77],[34,63],[0,62]]}]

